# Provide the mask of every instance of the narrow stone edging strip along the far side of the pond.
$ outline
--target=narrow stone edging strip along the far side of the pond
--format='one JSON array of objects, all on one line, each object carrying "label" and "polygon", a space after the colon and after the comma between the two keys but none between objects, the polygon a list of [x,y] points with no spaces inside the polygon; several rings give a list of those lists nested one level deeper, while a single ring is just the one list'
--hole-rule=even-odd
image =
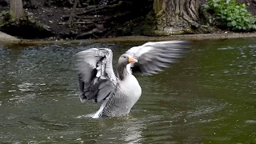
[{"label": "narrow stone edging strip along the far side of the pond", "polygon": [[[14,38],[14,37],[10,37]],[[256,33],[226,33],[226,34],[183,34],[170,36],[123,36],[116,38],[98,38],[98,39],[76,39],[76,40],[43,40],[43,39],[19,39],[15,41],[0,41],[0,44],[20,44],[20,45],[37,45],[37,44],[71,44],[71,43],[95,43],[95,42],[150,42],[150,41],[168,41],[168,40],[217,40],[230,38],[256,38]],[[18,40],[17,40],[18,39]]]}]

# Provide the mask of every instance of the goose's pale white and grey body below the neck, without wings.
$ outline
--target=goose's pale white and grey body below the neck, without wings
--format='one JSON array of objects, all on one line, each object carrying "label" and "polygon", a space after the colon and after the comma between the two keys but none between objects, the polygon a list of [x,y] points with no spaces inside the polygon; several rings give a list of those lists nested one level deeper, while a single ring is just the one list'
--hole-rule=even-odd
[{"label": "goose's pale white and grey body below the neck, without wings", "polygon": [[119,117],[130,113],[130,109],[141,97],[142,88],[133,74],[127,75],[117,85],[114,93],[106,98],[93,118]]}]

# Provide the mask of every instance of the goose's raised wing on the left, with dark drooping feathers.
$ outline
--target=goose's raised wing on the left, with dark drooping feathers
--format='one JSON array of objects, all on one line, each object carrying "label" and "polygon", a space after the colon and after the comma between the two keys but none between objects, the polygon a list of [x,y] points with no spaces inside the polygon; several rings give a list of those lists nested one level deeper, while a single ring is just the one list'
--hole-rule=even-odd
[{"label": "goose's raised wing on the left, with dark drooping feathers", "polygon": [[78,73],[80,99],[100,102],[114,90],[117,78],[112,67],[113,53],[110,49],[92,48],[74,55]]}]

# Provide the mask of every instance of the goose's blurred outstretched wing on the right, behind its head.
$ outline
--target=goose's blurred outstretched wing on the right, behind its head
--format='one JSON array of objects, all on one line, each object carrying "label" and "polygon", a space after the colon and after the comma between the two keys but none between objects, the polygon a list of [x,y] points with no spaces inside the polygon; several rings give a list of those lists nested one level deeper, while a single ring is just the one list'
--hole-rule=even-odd
[{"label": "goose's blurred outstretched wing on the right, behind its head", "polygon": [[164,41],[146,42],[142,46],[134,46],[126,51],[138,62],[130,65],[132,70],[139,70],[142,74],[157,74],[170,63],[177,62],[178,58],[188,50],[189,42]]}]

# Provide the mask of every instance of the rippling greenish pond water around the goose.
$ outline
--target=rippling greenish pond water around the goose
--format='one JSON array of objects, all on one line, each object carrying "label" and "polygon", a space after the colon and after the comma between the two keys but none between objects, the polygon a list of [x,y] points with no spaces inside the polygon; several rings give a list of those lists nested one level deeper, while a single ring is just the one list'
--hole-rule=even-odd
[{"label": "rippling greenish pond water around the goose", "polygon": [[256,42],[193,42],[161,74],[136,74],[142,97],[122,118],[92,119],[72,55],[118,56],[134,43],[0,46],[0,143],[256,143]]}]

